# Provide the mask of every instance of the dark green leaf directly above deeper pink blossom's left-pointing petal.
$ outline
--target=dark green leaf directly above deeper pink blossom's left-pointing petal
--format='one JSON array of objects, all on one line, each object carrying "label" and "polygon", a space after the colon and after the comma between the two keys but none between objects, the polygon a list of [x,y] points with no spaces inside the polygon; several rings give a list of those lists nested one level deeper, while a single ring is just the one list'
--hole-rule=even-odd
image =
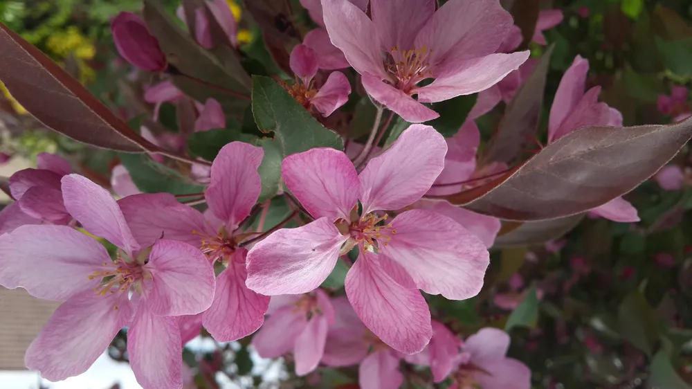
[{"label": "dark green leaf directly above deeper pink blossom's left-pointing petal", "polygon": [[118,156],[132,181],[142,192],[190,194],[204,191],[203,186],[192,183],[187,177],[161,163],[156,163],[148,155],[119,153]]}]

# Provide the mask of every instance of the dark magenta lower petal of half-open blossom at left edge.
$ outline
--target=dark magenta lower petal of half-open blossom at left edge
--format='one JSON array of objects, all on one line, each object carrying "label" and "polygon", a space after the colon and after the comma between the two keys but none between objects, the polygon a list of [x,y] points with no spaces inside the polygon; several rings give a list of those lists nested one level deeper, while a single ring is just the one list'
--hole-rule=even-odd
[{"label": "dark magenta lower petal of half-open blossom at left edge", "polygon": [[26,215],[52,224],[68,224],[72,220],[62,203],[62,192],[54,188],[29,188],[17,203]]}]

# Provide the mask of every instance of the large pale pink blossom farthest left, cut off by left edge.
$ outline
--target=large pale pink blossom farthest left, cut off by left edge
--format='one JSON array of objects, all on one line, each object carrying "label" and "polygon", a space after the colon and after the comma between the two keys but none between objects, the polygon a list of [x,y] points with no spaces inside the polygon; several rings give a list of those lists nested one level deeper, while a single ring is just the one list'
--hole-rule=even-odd
[{"label": "large pale pink blossom farthest left, cut off by left edge", "polygon": [[[118,204],[76,174],[62,178],[64,206],[98,241],[68,226],[21,226],[0,236],[0,284],[64,301],[26,351],[27,368],[51,381],[86,371],[122,327],[134,373],[144,388],[181,388],[176,316],[212,302],[214,271],[188,244],[158,239],[150,248],[132,236]],[[40,269],[40,271],[37,271]],[[131,298],[130,298],[131,294]]]}]

